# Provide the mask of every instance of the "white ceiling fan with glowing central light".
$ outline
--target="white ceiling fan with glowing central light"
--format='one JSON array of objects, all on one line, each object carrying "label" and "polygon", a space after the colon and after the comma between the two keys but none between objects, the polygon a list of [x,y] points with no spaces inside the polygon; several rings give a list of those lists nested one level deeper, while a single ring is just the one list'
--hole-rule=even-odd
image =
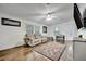
[{"label": "white ceiling fan with glowing central light", "polygon": [[40,20],[45,20],[45,21],[51,21],[52,18],[54,18],[57,11],[52,11],[49,8],[51,7],[51,3],[46,3],[45,4],[45,12],[38,12],[38,13],[30,13],[30,17],[39,17]]}]

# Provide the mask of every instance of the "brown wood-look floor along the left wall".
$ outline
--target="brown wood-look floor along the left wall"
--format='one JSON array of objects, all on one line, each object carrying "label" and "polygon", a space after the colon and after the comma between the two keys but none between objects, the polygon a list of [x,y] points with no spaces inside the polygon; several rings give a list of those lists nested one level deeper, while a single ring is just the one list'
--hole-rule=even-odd
[{"label": "brown wood-look floor along the left wall", "polygon": [[[41,44],[44,44],[44,43],[41,43]],[[27,60],[30,60],[32,52],[33,52],[33,48],[26,47],[26,46],[21,46],[17,48],[3,50],[3,51],[0,51],[0,61],[26,61],[26,57],[27,57],[26,55],[29,56],[29,59],[27,59]],[[67,53],[64,53],[64,56],[62,56],[61,60],[63,60],[63,59],[65,60],[65,55],[67,55]]]}]

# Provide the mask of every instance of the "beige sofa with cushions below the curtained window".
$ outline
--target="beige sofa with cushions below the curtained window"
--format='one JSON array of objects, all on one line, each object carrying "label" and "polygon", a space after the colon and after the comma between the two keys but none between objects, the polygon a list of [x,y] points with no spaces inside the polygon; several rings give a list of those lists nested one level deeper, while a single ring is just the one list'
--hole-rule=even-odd
[{"label": "beige sofa with cushions below the curtained window", "polygon": [[25,36],[26,44],[33,47],[42,42],[47,42],[47,37],[36,36],[36,35],[26,35]]}]

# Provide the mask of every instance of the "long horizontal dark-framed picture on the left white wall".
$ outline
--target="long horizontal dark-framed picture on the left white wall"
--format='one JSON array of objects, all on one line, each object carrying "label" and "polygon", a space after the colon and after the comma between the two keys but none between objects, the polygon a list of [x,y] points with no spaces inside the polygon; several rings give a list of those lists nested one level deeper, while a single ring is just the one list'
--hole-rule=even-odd
[{"label": "long horizontal dark-framed picture on the left white wall", "polygon": [[10,18],[5,18],[5,17],[1,18],[1,24],[2,25],[8,25],[8,26],[16,26],[16,27],[21,26],[21,22],[20,21],[10,20]]}]

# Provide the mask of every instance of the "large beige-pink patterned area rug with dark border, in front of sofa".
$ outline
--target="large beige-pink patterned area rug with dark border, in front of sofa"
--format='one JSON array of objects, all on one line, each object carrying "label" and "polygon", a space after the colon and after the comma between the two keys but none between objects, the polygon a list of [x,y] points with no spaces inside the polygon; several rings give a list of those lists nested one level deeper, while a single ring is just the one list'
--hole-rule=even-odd
[{"label": "large beige-pink patterned area rug with dark border, in front of sofa", "polygon": [[61,44],[58,42],[47,42],[41,46],[35,47],[34,51],[45,55],[52,61],[58,61],[60,60],[64,49],[65,44]]}]

